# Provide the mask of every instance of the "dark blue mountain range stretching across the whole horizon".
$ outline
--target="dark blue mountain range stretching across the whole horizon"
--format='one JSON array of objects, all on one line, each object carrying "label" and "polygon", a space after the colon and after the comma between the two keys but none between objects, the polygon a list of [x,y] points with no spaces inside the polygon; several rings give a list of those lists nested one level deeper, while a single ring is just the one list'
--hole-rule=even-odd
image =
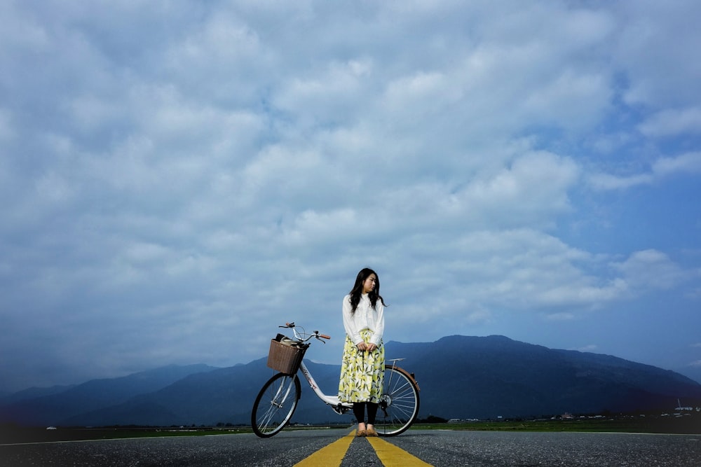
[{"label": "dark blue mountain range stretching across the whole horizon", "polygon": [[[400,366],[416,374],[421,386],[420,417],[670,411],[678,398],[683,405],[701,406],[701,384],[678,373],[503,336],[387,342],[386,357],[405,358]],[[340,366],[307,364],[322,391],[335,393]],[[39,426],[248,424],[253,401],[271,375],[266,358],[230,368],[170,367],[5,404],[0,406],[0,421]],[[137,384],[145,380],[150,383]],[[343,417],[323,405],[302,382],[293,421],[352,420],[350,414]]]}]

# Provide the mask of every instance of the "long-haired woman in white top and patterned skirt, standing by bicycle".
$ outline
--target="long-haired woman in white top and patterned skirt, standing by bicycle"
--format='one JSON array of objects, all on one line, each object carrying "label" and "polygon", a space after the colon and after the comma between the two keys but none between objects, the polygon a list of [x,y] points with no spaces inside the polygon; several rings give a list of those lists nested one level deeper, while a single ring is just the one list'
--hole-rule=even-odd
[{"label": "long-haired woman in white top and patterned skirt, standing by bicycle", "polygon": [[[353,403],[358,420],[356,436],[377,436],[375,417],[382,396],[385,366],[385,302],[380,296],[380,279],[372,269],[358,272],[351,293],[343,298],[343,346],[339,400]],[[367,423],[365,410],[367,408]]]}]

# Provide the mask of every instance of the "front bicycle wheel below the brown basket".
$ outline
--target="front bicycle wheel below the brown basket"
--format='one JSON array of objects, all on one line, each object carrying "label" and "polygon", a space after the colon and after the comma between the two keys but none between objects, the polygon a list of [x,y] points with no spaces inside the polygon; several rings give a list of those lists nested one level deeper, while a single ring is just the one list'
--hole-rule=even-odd
[{"label": "front bicycle wheel below the brown basket", "polygon": [[297,375],[278,373],[268,379],[258,393],[251,411],[253,432],[270,438],[290,423],[301,394]]}]

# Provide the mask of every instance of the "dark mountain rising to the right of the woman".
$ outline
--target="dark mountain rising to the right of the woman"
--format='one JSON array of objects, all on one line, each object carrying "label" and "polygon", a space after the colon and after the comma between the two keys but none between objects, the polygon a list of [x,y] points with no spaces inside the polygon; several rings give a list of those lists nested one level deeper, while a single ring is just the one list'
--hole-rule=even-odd
[{"label": "dark mountain rising to the right of the woman", "polygon": [[[651,365],[547,349],[503,336],[390,342],[421,386],[422,409],[446,418],[672,410],[701,405],[701,384]],[[422,410],[424,412],[424,410]]]}]

